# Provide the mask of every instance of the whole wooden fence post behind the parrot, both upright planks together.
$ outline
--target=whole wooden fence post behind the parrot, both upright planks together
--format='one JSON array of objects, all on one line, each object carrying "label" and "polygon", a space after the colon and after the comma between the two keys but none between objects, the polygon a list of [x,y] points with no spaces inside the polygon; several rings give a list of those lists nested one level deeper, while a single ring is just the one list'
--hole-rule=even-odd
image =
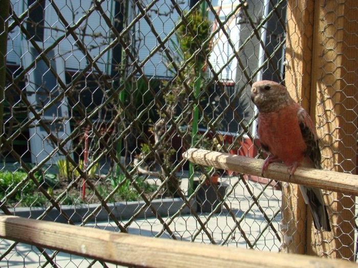
[{"label": "whole wooden fence post behind the parrot, both upright planks together", "polygon": [[[319,127],[324,168],[354,174],[358,81],[354,55],[358,38],[353,11],[358,3],[287,3],[286,86]],[[311,215],[306,214],[301,195],[296,194],[295,186],[284,187],[283,217],[289,220],[287,234],[293,234],[293,243],[283,245],[283,250],[292,252],[297,247],[297,253],[352,259],[354,198],[331,192],[325,201],[331,208],[332,232],[318,234],[312,230]]]}]

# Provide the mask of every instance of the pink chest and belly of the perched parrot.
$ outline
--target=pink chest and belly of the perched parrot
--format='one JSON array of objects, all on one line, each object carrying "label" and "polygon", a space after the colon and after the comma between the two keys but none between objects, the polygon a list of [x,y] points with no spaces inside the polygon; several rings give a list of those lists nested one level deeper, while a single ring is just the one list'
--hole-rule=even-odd
[{"label": "pink chest and belly of the perched parrot", "polygon": [[258,135],[261,143],[286,165],[304,158],[307,146],[301,134],[297,111],[286,108],[279,112],[260,113]]}]

